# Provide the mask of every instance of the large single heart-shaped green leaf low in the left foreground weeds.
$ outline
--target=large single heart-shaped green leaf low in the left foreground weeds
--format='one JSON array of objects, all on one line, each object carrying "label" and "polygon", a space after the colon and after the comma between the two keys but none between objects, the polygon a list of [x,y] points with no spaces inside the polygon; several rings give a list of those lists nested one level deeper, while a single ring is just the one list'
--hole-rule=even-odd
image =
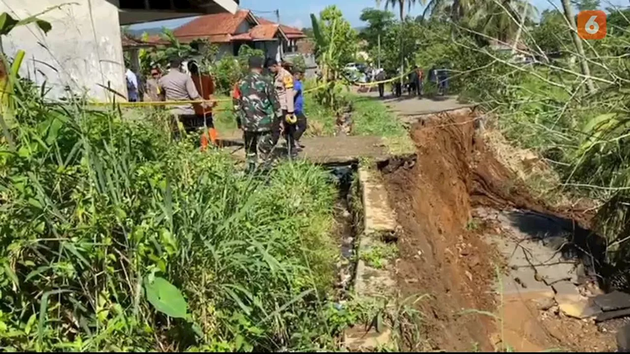
[{"label": "large single heart-shaped green leaf low in the left foreground weeds", "polygon": [[180,289],[168,282],[168,280],[156,277],[153,282],[144,282],[147,301],[156,308],[157,311],[173,318],[185,318],[188,311],[188,304]]}]

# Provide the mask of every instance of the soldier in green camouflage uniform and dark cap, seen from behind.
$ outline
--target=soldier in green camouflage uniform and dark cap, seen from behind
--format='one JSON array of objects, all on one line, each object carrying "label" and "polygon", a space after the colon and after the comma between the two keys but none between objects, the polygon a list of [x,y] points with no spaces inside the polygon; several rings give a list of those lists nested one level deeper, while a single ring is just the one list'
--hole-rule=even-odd
[{"label": "soldier in green camouflage uniform and dark cap, seen from behind", "polygon": [[238,117],[243,128],[248,171],[256,168],[258,152],[265,163],[275,145],[272,131],[276,117],[282,114],[275,89],[261,75],[263,59],[249,58],[249,74],[238,83]]}]

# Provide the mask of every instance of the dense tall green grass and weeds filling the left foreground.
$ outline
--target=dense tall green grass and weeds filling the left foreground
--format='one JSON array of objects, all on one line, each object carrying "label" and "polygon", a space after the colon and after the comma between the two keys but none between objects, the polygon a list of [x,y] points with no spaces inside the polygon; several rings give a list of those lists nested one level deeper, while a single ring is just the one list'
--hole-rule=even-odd
[{"label": "dense tall green grass and weeds filling the left foreground", "polygon": [[335,186],[238,174],[158,123],[16,89],[0,154],[0,348],[331,348]]}]

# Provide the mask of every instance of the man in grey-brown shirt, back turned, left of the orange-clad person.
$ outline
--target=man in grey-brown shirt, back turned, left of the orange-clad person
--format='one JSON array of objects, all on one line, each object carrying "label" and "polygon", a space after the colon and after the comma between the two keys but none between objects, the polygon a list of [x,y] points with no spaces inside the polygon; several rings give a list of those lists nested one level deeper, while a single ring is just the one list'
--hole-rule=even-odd
[{"label": "man in grey-brown shirt, back turned, left of the orange-clad person", "polygon": [[[181,72],[181,59],[179,58],[171,59],[168,74],[159,79],[158,86],[166,101],[200,100],[201,98],[192,78]],[[202,103],[202,106],[207,107],[205,103]],[[183,124],[186,133],[197,130],[200,127],[199,123],[203,127],[203,122],[197,121],[197,115],[195,115],[193,105],[190,103],[174,106],[171,108],[171,114],[173,114],[171,124],[175,139],[180,138],[178,121]]]}]

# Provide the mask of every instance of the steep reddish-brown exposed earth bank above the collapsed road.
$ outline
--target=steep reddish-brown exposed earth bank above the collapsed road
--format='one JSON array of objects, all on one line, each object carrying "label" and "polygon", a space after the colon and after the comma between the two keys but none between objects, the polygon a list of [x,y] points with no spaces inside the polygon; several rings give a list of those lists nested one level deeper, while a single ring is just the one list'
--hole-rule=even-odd
[{"label": "steep reddish-brown exposed earth bank above the collapsed road", "polygon": [[[433,349],[496,349],[493,284],[502,260],[482,237],[486,226],[471,222],[473,207],[566,216],[530,197],[524,184],[484,146],[475,126],[476,113],[469,109],[426,117],[411,130],[416,164],[384,174],[403,227],[399,288],[404,295],[431,295],[421,309],[424,336]],[[417,350],[427,343],[407,345]]]}]

